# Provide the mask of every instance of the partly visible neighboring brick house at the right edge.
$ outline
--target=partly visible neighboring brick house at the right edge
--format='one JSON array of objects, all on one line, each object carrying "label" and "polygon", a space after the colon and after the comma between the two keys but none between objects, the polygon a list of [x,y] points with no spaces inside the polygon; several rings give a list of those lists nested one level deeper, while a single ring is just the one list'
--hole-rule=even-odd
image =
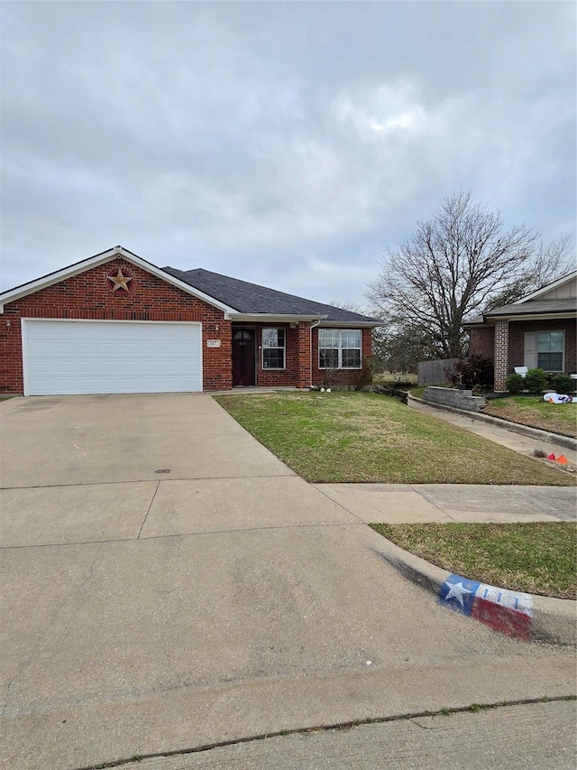
[{"label": "partly visible neighboring brick house at the right edge", "polygon": [[505,391],[515,366],[577,373],[577,271],[549,283],[519,302],[474,318],[464,326],[470,353],[495,365],[494,389]]}]

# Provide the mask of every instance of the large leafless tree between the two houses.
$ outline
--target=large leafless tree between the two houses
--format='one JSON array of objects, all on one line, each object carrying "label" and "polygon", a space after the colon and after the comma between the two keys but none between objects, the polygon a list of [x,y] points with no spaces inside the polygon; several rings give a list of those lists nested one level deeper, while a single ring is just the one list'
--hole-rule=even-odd
[{"label": "large leafless tree between the two houses", "polygon": [[518,299],[521,286],[539,283],[545,274],[554,280],[552,264],[557,274],[563,267],[568,272],[570,260],[569,238],[545,246],[531,227],[505,229],[499,211],[460,191],[383,257],[368,297],[393,327],[430,339],[439,357],[458,357],[463,320],[509,288]]}]

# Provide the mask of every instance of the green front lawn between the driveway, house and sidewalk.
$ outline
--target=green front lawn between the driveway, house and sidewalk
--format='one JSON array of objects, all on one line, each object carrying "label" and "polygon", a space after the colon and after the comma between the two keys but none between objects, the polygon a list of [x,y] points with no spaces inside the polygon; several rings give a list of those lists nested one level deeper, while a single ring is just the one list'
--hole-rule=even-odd
[{"label": "green front lawn between the driveway, house and sidewalk", "polygon": [[418,413],[396,398],[337,391],[234,394],[216,401],[311,482],[574,483],[568,473]]}]

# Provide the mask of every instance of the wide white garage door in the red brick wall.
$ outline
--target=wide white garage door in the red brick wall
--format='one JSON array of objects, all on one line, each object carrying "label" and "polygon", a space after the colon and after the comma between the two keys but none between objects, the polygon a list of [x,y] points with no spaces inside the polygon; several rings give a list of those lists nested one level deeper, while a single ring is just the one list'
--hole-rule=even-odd
[{"label": "wide white garage door in the red brick wall", "polygon": [[23,320],[25,395],[202,390],[199,323]]}]

